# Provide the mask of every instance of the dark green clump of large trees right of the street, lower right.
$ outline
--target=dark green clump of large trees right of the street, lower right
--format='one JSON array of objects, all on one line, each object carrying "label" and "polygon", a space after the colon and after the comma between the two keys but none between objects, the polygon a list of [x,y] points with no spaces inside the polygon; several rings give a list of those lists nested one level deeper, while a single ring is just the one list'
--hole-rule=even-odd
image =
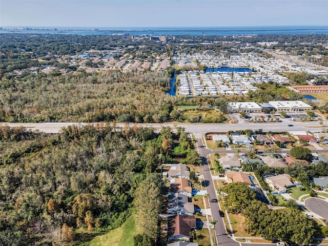
[{"label": "dark green clump of large trees right of the street, lower right", "polygon": [[319,231],[314,220],[304,215],[294,202],[286,209],[271,210],[268,205],[258,201],[256,193],[241,182],[229,183],[222,188],[228,193],[225,206],[231,212],[242,212],[248,232],[273,240],[308,244]]}]

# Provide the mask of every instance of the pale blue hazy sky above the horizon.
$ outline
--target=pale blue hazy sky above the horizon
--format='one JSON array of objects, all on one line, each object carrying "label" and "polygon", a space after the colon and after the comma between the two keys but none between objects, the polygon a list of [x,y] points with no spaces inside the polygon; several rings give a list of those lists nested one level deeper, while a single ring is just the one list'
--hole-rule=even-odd
[{"label": "pale blue hazy sky above the horizon", "polygon": [[328,26],[328,0],[0,0],[0,26]]}]

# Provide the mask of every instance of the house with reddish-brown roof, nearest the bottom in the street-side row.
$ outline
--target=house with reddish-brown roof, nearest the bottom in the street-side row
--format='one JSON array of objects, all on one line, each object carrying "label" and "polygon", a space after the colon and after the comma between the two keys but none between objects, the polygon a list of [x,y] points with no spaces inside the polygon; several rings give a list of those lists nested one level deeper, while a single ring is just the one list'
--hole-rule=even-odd
[{"label": "house with reddish-brown roof, nearest the bottom in the street-side row", "polygon": [[177,214],[169,221],[169,240],[185,239],[190,241],[190,232],[196,229],[195,216]]}]

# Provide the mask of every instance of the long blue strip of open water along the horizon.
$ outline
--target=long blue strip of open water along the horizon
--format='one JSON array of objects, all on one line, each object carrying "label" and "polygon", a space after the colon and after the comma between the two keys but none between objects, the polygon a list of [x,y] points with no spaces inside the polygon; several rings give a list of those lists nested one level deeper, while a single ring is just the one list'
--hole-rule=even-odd
[{"label": "long blue strip of open water along the horizon", "polygon": [[[34,27],[35,30],[18,30],[3,27],[0,33],[39,33],[39,34],[77,34],[77,35],[263,35],[263,34],[328,34],[328,26],[272,26],[272,27],[209,27],[209,28],[97,28],[90,27]],[[11,29],[11,30],[7,30]]]}]

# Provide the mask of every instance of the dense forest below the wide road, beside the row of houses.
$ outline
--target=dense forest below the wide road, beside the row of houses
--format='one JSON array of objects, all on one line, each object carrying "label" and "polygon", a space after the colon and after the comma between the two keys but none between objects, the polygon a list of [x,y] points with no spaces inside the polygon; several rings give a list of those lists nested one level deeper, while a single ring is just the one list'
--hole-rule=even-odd
[{"label": "dense forest below the wide road, beside the row of houses", "polygon": [[140,236],[155,242],[166,191],[159,158],[177,163],[177,148],[199,161],[185,135],[106,124],[59,134],[0,127],[0,244],[72,244],[119,227],[133,211]]}]

